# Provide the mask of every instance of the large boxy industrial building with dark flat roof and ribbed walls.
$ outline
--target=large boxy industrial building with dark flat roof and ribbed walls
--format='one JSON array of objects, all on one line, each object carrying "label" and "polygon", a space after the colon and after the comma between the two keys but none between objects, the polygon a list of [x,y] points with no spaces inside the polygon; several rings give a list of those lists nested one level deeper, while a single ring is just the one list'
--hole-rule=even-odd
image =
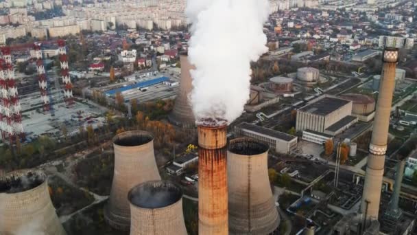
[{"label": "large boxy industrial building with dark flat roof and ribbed walls", "polygon": [[333,96],[321,96],[298,109],[296,130],[329,132],[329,135],[339,133],[357,122],[357,118],[350,116],[351,113],[352,101]]}]

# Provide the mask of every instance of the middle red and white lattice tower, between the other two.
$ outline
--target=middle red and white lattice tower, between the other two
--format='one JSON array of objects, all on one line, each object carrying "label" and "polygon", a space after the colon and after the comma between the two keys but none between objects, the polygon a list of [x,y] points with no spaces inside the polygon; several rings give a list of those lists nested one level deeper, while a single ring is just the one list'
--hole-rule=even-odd
[{"label": "middle red and white lattice tower, between the other two", "polygon": [[38,71],[38,82],[39,82],[39,89],[40,89],[40,99],[43,102],[43,110],[49,111],[50,107],[50,100],[48,96],[48,81],[47,76],[45,74],[45,66],[43,65],[42,59],[42,49],[40,48],[40,43],[34,44],[34,51],[35,51],[35,59],[36,59],[36,71]]}]

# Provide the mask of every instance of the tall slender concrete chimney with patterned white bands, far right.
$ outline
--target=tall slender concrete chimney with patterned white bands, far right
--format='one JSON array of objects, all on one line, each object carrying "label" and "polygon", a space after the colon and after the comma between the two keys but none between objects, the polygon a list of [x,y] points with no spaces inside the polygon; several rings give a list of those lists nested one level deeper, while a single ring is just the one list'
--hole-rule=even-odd
[{"label": "tall slender concrete chimney with patterned white bands, far right", "polygon": [[361,201],[361,213],[366,219],[378,219],[381,185],[387,150],[388,128],[392,107],[392,92],[395,83],[395,67],[398,61],[398,50],[387,48],[383,52],[383,68],[377,109],[375,111],[372,139],[369,145],[368,164]]}]

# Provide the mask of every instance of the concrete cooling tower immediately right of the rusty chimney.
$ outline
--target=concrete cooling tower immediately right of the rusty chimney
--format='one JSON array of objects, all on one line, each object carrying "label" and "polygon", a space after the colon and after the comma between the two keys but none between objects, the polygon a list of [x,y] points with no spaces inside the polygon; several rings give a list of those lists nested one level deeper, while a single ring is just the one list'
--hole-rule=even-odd
[{"label": "concrete cooling tower immediately right of the rusty chimney", "polygon": [[254,139],[230,142],[227,153],[230,234],[270,234],[279,225],[267,169],[268,146]]}]

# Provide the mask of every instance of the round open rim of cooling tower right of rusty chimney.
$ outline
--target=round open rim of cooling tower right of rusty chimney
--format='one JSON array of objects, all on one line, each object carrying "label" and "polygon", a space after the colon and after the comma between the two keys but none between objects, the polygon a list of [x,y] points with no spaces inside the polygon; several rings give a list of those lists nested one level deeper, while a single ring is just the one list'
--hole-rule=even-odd
[{"label": "round open rim of cooling tower right of rusty chimney", "polygon": [[[242,145],[242,144],[250,144],[250,147],[252,148],[247,149],[247,147],[249,146],[240,146],[239,148],[239,145]],[[250,137],[241,137],[241,138],[233,139],[230,141],[229,146],[228,146],[229,153],[233,153],[234,155],[239,155],[241,157],[263,155],[267,153],[269,150],[270,150],[270,146],[268,146],[267,144],[263,142],[260,142],[257,139],[253,139]],[[246,153],[243,153],[243,152],[246,152]]]}]

